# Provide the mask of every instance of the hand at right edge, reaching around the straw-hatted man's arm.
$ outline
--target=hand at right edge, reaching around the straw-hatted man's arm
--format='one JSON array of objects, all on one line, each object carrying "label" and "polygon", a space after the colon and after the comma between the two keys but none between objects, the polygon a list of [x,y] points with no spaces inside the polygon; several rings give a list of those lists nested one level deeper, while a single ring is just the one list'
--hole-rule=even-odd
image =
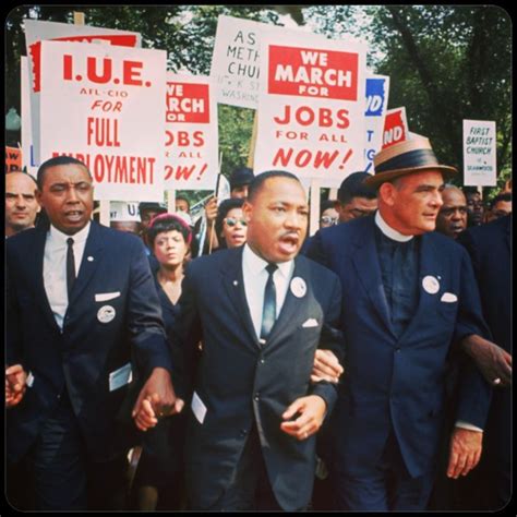
[{"label": "hand at right edge, reaching around the straw-hatted man's arm", "polygon": [[512,384],[512,356],[495,342],[472,334],[461,340],[464,350],[476,361],[483,377],[492,386]]}]

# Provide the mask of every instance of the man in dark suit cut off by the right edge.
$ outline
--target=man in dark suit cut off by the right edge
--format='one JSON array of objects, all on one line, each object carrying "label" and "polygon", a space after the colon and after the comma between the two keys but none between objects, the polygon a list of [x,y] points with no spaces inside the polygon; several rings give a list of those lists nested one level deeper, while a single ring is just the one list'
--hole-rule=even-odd
[{"label": "man in dark suit cut off by the right edge", "polygon": [[[484,318],[494,341],[504,349],[501,360],[506,361],[509,369],[512,365],[510,216],[469,228],[460,235],[458,241],[470,254]],[[503,383],[502,378],[497,385],[503,384],[507,383]],[[457,509],[498,510],[508,504],[512,496],[510,402],[508,385],[494,389],[483,436],[483,456],[479,468],[473,472],[472,482],[462,486],[467,492],[464,492],[461,497],[462,507]]]}]

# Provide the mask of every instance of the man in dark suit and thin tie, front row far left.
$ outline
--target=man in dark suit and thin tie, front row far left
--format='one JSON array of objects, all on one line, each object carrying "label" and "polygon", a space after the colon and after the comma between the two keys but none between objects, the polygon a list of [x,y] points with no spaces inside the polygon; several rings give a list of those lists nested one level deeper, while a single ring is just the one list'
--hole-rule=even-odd
[{"label": "man in dark suit and thin tie, front row far left", "polygon": [[116,417],[132,357],[146,380],[140,429],[151,400],[168,412],[181,402],[142,242],[91,220],[83,163],[51,158],[37,181],[50,224],[7,242],[7,450],[12,461],[28,454],[38,509],[86,509],[87,483],[113,481],[106,461],[127,453]]}]

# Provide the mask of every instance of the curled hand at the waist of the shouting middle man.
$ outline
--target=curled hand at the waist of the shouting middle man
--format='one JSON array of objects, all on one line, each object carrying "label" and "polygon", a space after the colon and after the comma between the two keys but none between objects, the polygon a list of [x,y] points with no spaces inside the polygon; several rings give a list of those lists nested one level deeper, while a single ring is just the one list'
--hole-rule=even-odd
[{"label": "curled hand at the waist of the shouting middle man", "polygon": [[[326,407],[325,400],[318,395],[297,398],[281,416],[285,422],[280,429],[298,440],[306,440],[322,426]],[[299,417],[289,421],[297,413]]]}]

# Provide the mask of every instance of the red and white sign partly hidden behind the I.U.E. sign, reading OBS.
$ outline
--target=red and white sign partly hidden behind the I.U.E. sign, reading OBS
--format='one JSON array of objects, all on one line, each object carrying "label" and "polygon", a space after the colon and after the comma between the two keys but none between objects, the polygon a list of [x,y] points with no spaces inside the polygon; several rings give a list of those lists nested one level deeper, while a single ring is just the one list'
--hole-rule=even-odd
[{"label": "red and white sign partly hidden behind the I.U.E. sign, reading OBS", "polygon": [[167,74],[166,189],[214,189],[217,101],[209,77]]}]

